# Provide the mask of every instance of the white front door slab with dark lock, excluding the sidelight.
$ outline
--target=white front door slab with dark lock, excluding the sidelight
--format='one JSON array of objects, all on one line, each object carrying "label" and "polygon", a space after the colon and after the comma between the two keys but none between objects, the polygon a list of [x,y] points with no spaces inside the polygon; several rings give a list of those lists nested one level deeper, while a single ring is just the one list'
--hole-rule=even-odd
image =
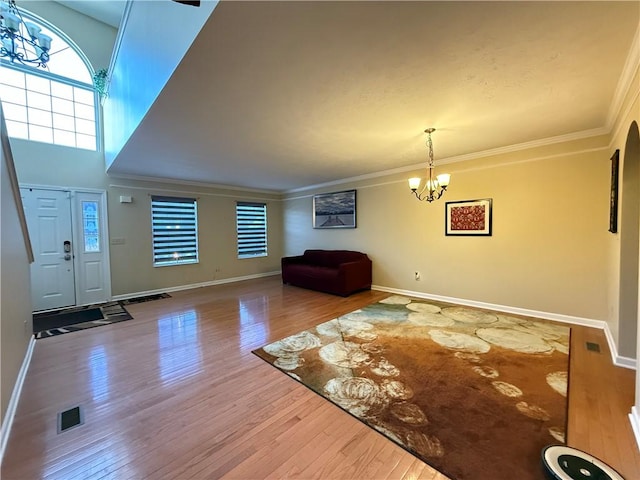
[{"label": "white front door slab with dark lock, excluding the sidelight", "polygon": [[75,305],[71,195],[31,188],[20,192],[35,257],[31,264],[33,309]]}]

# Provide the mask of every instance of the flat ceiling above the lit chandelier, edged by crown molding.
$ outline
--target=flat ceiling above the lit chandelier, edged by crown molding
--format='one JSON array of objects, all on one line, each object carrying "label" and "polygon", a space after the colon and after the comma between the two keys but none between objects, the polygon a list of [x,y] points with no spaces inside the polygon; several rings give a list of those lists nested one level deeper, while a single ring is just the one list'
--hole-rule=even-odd
[{"label": "flat ceiling above the lit chandelier, edged by crown molding", "polygon": [[221,2],[110,173],[290,191],[423,163],[427,127],[436,163],[603,133],[639,10]]}]

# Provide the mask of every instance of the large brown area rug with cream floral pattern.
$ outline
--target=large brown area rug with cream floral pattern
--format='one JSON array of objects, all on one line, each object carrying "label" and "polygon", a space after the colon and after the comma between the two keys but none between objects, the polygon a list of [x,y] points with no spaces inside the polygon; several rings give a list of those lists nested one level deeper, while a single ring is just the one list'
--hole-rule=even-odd
[{"label": "large brown area rug with cream floral pattern", "polygon": [[253,353],[455,480],[544,478],[570,329],[392,296]]}]

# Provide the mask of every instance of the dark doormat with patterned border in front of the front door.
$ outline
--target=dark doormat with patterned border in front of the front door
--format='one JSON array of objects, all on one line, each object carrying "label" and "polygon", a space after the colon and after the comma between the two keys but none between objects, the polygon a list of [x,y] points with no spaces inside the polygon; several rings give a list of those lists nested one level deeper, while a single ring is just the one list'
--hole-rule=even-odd
[{"label": "dark doormat with patterned border in front of the front door", "polygon": [[33,334],[36,339],[47,338],[132,318],[120,302],[65,308],[33,315]]}]

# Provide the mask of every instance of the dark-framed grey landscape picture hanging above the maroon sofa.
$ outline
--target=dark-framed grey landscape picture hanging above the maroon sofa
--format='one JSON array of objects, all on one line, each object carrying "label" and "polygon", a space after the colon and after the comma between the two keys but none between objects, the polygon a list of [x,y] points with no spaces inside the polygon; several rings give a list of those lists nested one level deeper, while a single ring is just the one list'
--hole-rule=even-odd
[{"label": "dark-framed grey landscape picture hanging above the maroon sofa", "polygon": [[356,191],[314,195],[313,228],[356,228]]}]

